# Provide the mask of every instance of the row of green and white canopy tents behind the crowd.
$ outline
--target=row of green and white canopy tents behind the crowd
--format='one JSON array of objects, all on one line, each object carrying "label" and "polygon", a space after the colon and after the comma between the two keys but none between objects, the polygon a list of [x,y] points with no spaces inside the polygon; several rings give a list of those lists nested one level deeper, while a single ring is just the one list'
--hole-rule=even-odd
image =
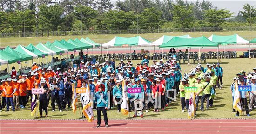
[{"label": "row of green and white canopy tents behind the crowd", "polygon": [[240,37],[238,34],[229,36],[211,35],[207,37],[190,37],[189,35],[182,36],[162,36],[154,42],[147,39],[136,37],[114,37],[107,43],[95,43],[89,39],[69,39],[69,40],[55,40],[53,43],[47,42],[45,44],[38,43],[36,46],[29,44],[27,46],[18,45],[15,49],[6,47],[0,50],[0,65],[11,64],[15,62],[28,61],[39,57],[48,55],[62,55],[69,51],[97,48],[97,47],[114,47],[122,45],[138,45],[138,46],[158,46],[159,48],[179,48],[179,47],[218,47],[219,45],[227,44],[249,44],[256,43],[256,38],[248,41]]}]

